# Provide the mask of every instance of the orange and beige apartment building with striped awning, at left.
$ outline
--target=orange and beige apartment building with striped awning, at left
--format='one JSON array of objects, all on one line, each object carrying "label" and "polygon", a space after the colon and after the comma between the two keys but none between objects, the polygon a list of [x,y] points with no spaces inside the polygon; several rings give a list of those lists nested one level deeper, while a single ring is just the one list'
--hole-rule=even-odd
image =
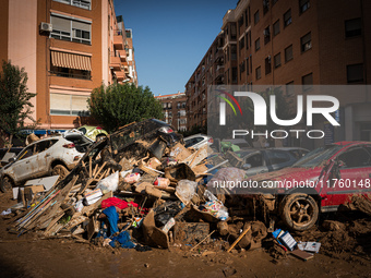
[{"label": "orange and beige apartment building with striped awning, at left", "polygon": [[[0,59],[25,68],[39,133],[87,123],[87,98],[129,75],[112,0],[1,0]],[[135,75],[136,78],[136,75]]]}]

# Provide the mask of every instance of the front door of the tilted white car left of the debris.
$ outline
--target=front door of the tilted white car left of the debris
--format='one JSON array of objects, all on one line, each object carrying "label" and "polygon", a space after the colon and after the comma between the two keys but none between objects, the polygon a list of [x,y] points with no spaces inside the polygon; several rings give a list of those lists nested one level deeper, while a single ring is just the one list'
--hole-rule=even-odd
[{"label": "front door of the tilted white car left of the debris", "polygon": [[35,156],[35,149],[36,144],[27,146],[11,166],[15,182],[31,179],[31,177],[34,177],[34,174],[38,172],[38,161],[37,156]]}]

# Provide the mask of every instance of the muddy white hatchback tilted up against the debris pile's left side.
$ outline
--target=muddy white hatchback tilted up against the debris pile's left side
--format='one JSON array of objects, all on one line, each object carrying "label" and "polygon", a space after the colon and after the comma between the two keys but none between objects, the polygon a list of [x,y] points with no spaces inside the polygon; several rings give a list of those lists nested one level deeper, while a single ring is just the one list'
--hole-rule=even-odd
[{"label": "muddy white hatchback tilted up against the debris pile's left side", "polygon": [[62,136],[36,141],[0,169],[0,189],[5,192],[29,179],[48,174],[63,178],[74,168],[84,152],[85,148],[75,146]]}]

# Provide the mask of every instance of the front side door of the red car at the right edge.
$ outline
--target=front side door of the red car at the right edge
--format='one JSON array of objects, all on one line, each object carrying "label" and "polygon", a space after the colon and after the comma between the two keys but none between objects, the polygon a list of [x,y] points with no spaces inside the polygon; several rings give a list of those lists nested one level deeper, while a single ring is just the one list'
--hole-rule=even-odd
[{"label": "front side door of the red car at the right edge", "polygon": [[371,185],[370,146],[356,146],[346,149],[337,156],[337,178],[327,183],[331,186],[326,190],[331,206],[350,203],[352,195],[370,192]]}]

